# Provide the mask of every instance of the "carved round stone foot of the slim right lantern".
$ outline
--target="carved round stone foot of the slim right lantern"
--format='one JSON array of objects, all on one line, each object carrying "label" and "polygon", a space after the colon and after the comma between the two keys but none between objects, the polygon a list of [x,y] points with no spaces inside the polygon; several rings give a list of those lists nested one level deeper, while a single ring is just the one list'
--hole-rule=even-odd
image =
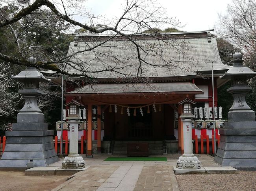
[{"label": "carved round stone foot of the slim right lantern", "polygon": [[177,160],[177,168],[180,169],[200,169],[201,162],[198,160],[197,156],[194,154],[183,154]]}]

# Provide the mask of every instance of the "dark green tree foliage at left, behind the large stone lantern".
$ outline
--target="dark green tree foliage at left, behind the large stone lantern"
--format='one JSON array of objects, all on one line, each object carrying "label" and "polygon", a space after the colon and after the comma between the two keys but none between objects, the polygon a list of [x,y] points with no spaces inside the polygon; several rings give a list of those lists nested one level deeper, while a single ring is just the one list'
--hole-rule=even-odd
[{"label": "dark green tree foliage at left, behind the large stone lantern", "polygon": [[[19,7],[11,4],[0,7],[1,21],[17,14],[18,9]],[[64,33],[68,27],[52,11],[37,9],[33,15],[22,18],[20,22],[0,28],[0,52],[20,59],[31,55],[38,60],[51,59],[53,56],[58,59],[67,55],[69,44],[74,40],[73,35]],[[23,99],[17,94],[22,84],[13,81],[10,75],[17,75],[26,67],[7,64],[3,60],[0,60],[0,64],[0,84],[6,86],[4,88],[0,85],[0,127],[4,129],[7,124],[15,122],[23,103]],[[41,88],[45,95],[40,97],[39,107],[45,113],[46,121],[54,127],[55,122],[60,120],[60,115],[52,115],[51,112],[61,105],[61,89],[54,84],[42,84]],[[16,101],[17,98],[20,100]]]}]

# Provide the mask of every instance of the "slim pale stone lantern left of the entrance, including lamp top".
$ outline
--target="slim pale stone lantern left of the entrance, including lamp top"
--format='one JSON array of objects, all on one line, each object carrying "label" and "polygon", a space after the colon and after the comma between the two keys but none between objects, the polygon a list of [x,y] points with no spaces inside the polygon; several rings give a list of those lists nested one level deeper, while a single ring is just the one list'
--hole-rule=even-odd
[{"label": "slim pale stone lantern left of the entrance, including lamp top", "polygon": [[78,154],[78,123],[81,119],[79,115],[79,107],[83,106],[76,100],[72,100],[65,104],[69,107],[69,155],[62,162],[63,169],[81,169],[85,168],[83,157]]}]

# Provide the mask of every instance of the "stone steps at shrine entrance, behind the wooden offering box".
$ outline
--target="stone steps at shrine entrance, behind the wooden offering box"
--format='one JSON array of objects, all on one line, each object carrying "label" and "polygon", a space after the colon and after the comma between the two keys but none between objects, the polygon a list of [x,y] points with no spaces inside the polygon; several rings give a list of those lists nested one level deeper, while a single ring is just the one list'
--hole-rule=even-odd
[{"label": "stone steps at shrine entrance, behind the wooden offering box", "polygon": [[164,145],[163,141],[115,141],[113,145],[113,155],[126,155],[127,154],[127,143],[141,142],[148,143],[149,155],[163,155]]}]

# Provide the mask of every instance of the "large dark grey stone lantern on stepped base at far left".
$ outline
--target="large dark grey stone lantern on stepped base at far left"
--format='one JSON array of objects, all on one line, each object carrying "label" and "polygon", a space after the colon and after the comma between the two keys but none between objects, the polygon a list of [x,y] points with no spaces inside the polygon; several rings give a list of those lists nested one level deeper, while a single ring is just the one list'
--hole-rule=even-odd
[{"label": "large dark grey stone lantern on stepped base at far left", "polygon": [[[35,61],[35,58],[29,58]],[[45,115],[37,106],[37,98],[43,94],[39,82],[49,82],[34,67],[27,67],[13,79],[24,83],[19,93],[25,104],[17,114],[17,123],[12,131],[6,131],[6,148],[0,160],[0,167],[47,166],[59,161],[53,144],[53,131],[48,130]]]}]

